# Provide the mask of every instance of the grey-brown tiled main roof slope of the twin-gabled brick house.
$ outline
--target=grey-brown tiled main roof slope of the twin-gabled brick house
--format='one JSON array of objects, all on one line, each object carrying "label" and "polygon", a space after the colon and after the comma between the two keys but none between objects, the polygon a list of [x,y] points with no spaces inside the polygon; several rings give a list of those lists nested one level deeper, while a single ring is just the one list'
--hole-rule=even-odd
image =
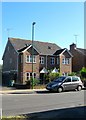
[{"label": "grey-brown tiled main roof slope of the twin-gabled brick house", "polygon": [[[25,49],[26,45],[31,45],[31,40],[24,40],[19,38],[9,38],[10,42],[14,46],[15,50],[22,51]],[[40,42],[40,41],[34,41],[34,47],[39,51],[42,55],[52,55],[55,53],[55,51],[61,49],[58,45],[55,43],[48,43],[48,42]]]}]

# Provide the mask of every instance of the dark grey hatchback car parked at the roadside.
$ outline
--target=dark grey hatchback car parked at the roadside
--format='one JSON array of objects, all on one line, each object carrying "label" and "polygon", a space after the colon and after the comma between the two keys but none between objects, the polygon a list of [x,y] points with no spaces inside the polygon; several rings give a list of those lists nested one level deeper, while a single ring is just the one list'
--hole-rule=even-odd
[{"label": "dark grey hatchback car parked at the roadside", "polygon": [[46,85],[47,90],[57,92],[74,89],[80,91],[82,87],[83,83],[77,76],[61,76]]}]

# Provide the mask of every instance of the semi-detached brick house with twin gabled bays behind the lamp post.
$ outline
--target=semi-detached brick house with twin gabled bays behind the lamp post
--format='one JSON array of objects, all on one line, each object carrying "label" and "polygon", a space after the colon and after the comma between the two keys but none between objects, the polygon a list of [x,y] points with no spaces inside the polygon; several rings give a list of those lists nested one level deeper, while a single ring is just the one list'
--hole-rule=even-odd
[{"label": "semi-detached brick house with twin gabled bays behind the lamp post", "polygon": [[14,79],[15,83],[24,84],[33,75],[42,79],[44,69],[59,69],[61,74],[72,71],[72,55],[66,49],[48,42],[34,41],[32,57],[32,41],[19,38],[8,38],[3,54],[3,80]]}]

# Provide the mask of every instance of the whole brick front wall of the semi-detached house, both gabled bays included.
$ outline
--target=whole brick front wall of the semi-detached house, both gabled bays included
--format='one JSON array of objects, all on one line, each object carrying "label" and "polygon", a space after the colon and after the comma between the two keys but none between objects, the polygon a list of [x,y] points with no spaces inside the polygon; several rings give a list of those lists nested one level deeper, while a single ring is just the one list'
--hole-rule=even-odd
[{"label": "whole brick front wall of the semi-detached house, both gabled bays included", "polygon": [[[27,63],[26,62],[26,55],[31,55],[31,53],[29,51],[26,51],[23,53],[23,64],[20,71],[22,71],[22,78],[21,78],[21,82],[25,83],[26,81],[26,73],[27,72],[32,72],[32,63]],[[70,56],[65,52],[64,54],[62,54],[59,58],[59,56],[45,56],[45,55],[39,55],[37,53],[35,53],[36,55],[36,63],[33,63],[33,72],[36,73],[36,77],[39,78],[40,77],[40,71],[43,69],[43,67],[45,67],[47,70],[53,70],[55,67],[57,69],[60,69],[60,72],[63,73],[71,73],[72,72],[72,64],[71,64],[71,58]],[[40,57],[44,57],[44,64],[40,64]],[[51,57],[55,58],[55,64],[52,65],[50,63],[50,59]],[[60,59],[60,64],[57,64],[57,57]],[[62,59],[63,58],[70,58],[70,64],[62,64]]]}]

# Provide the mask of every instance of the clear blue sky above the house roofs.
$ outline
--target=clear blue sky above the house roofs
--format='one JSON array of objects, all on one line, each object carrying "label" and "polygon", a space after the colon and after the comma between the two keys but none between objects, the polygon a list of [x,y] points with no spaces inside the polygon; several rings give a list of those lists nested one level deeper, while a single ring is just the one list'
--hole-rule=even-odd
[{"label": "clear blue sky above the house roofs", "polygon": [[2,2],[0,7],[0,64],[8,37],[32,39],[32,22],[34,40],[84,48],[84,2]]}]

